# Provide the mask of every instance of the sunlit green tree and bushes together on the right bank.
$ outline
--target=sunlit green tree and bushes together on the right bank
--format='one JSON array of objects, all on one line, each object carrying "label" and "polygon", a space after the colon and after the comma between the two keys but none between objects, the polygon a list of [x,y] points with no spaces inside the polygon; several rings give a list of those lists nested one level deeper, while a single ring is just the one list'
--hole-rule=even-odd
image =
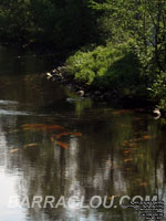
[{"label": "sunlit green tree and bushes together on the right bank", "polygon": [[[100,85],[105,80],[104,85],[110,90],[114,86],[122,87],[123,91],[127,91],[129,94],[133,93],[132,87],[135,92],[141,90],[142,94],[155,98],[159,107],[165,108],[165,1],[105,0],[101,3],[91,0],[90,2],[92,10],[101,12],[97,22],[103,43],[111,42],[111,44],[106,43],[103,50],[96,48],[93,52],[87,52],[86,55],[85,53],[76,53],[70,59],[75,78],[89,77],[89,84],[98,80]],[[128,51],[123,51],[128,39],[133,40],[134,48],[128,46]],[[123,57],[118,57],[120,51]],[[108,52],[108,56],[106,52]],[[92,59],[93,53],[98,55],[95,62]],[[116,59],[112,59],[111,54],[114,54]],[[101,56],[103,61],[101,61]],[[81,61],[80,70],[75,69],[77,60]],[[100,67],[98,63],[102,63]]]}]

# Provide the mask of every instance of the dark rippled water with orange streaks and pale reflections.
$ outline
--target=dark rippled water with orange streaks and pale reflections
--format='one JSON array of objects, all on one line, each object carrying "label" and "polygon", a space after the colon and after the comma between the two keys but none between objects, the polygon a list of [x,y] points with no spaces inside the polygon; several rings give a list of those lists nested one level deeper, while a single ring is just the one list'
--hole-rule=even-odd
[{"label": "dark rippled water with orange streaks and pale reflections", "polygon": [[[166,199],[164,122],[75,97],[45,78],[52,65],[51,56],[0,48],[0,220],[144,220],[120,201]],[[35,196],[42,202],[32,207]],[[56,208],[44,208],[48,196]]]}]

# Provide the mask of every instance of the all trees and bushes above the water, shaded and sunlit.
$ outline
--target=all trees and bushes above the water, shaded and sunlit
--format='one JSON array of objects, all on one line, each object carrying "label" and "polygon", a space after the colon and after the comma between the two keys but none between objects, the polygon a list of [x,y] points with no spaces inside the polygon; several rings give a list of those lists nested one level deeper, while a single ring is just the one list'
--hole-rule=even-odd
[{"label": "all trees and bushes above the water, shaded and sunlit", "polygon": [[62,53],[69,75],[166,108],[166,2],[1,0],[0,41]]}]

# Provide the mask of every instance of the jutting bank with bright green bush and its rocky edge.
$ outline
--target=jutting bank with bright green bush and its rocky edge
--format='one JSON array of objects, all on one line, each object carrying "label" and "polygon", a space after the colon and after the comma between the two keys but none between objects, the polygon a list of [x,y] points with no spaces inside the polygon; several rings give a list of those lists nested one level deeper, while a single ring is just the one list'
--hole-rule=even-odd
[{"label": "jutting bank with bright green bush and its rocky edge", "polygon": [[96,102],[153,110],[157,103],[149,96],[148,80],[141,69],[133,40],[128,40],[117,45],[84,48],[48,73],[48,78]]}]

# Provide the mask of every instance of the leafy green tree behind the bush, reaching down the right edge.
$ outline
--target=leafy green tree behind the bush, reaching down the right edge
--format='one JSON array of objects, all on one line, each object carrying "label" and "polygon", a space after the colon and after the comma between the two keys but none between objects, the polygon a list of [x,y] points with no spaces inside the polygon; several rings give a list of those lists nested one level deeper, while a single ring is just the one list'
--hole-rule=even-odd
[{"label": "leafy green tree behind the bush, reaching down the right edge", "polygon": [[[104,41],[115,44],[132,38],[142,64],[146,87],[160,106],[166,104],[166,3],[159,0],[91,0],[101,12],[98,25]],[[105,33],[105,34],[103,34]]]}]

